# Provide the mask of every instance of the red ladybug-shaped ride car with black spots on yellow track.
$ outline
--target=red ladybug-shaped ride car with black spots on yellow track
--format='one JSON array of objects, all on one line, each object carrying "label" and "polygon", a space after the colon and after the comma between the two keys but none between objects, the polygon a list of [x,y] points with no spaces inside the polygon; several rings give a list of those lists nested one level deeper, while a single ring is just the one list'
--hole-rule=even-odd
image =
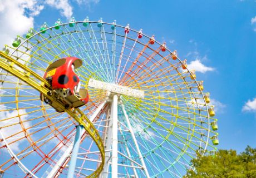
[{"label": "red ladybug-shaped ride car with black spots on yellow track", "polygon": [[[63,103],[66,108],[77,108],[85,105],[88,100],[87,90],[80,89],[80,80],[75,73],[75,69],[82,65],[82,60],[76,57],[61,58],[53,62],[46,69],[45,78],[50,83],[51,88],[48,95]],[[57,112],[63,112],[55,102],[48,100],[46,96],[40,94],[41,101],[51,105]]]}]

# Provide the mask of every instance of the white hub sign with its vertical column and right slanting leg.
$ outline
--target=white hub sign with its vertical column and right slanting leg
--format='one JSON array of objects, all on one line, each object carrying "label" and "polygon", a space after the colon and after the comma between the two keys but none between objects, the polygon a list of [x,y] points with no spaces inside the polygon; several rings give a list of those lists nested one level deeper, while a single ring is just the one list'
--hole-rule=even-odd
[{"label": "white hub sign with its vertical column and right slanting leg", "polygon": [[[93,78],[90,79],[88,86],[107,91],[106,100],[111,102],[111,107],[109,107],[109,111],[107,111],[110,113],[110,122],[109,122],[109,126],[107,127],[107,131],[106,131],[107,139],[105,141],[105,148],[106,148],[106,150],[109,150],[109,151],[106,153],[104,169],[103,169],[100,177],[107,178],[107,176],[109,175],[108,171],[109,171],[110,164],[112,167],[112,172],[111,172],[112,178],[118,177],[118,167],[119,167],[119,164],[118,164],[119,151],[117,149],[117,146],[118,146],[118,122],[119,122],[118,115],[117,115],[118,106],[121,106],[122,111],[125,114],[125,120],[127,122],[128,129],[131,133],[132,139],[134,140],[135,147],[139,154],[139,159],[141,161],[141,165],[140,165],[140,164],[137,164],[137,162],[128,158],[132,161],[131,166],[134,167],[135,177],[138,177],[138,176],[137,176],[137,172],[136,172],[137,166],[134,166],[134,164],[140,165],[141,169],[145,171],[146,177],[150,177],[149,172],[147,171],[144,159],[141,155],[139,146],[137,144],[137,140],[134,135],[134,131],[132,130],[129,117],[125,111],[124,105],[122,105],[121,100],[120,100],[121,95],[144,98],[144,91],[134,90],[130,87],[124,87],[124,86],[120,86],[120,85],[97,81],[97,80],[94,80]],[[105,104],[106,104],[106,102],[105,102]],[[112,147],[111,147],[111,145],[112,145]],[[112,155],[110,155],[111,152],[112,152]],[[129,152],[128,152],[128,155],[129,155]]]}]

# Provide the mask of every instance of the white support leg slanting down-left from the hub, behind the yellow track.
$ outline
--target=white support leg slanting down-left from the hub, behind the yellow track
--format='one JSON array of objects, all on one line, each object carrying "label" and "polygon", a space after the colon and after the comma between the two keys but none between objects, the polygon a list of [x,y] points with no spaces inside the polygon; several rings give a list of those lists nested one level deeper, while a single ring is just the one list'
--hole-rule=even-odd
[{"label": "white support leg slanting down-left from the hub, behind the yellow track", "polygon": [[[97,115],[99,115],[100,111],[102,110],[102,108],[106,105],[107,101],[104,101],[101,103],[101,105],[96,109],[96,111],[92,114],[92,116],[90,117],[90,121],[92,122],[93,120],[95,120],[95,118],[97,117]],[[82,135],[85,133],[85,129],[82,129]],[[60,169],[60,167],[63,165],[63,163],[65,162],[65,160],[67,159],[67,157],[71,154],[72,152],[72,148],[73,148],[73,143],[70,144],[70,146],[67,147],[67,149],[65,150],[64,154],[61,156],[61,158],[58,160],[58,162],[55,164],[55,166],[52,168],[51,172],[49,172],[49,174],[47,175],[47,178],[52,178],[56,175],[56,173],[58,172],[58,170]]]}]

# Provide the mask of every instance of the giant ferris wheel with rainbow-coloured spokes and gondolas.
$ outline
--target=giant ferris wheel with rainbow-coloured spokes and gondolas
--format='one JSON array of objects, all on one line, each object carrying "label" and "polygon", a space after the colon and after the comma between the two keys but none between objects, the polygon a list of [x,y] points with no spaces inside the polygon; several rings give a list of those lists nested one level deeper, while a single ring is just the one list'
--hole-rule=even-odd
[{"label": "giant ferris wheel with rainbow-coloured spokes and gondolas", "polygon": [[[182,177],[197,152],[219,144],[203,81],[142,29],[58,19],[17,36],[0,56],[3,177],[67,177],[71,167],[70,177]],[[90,99],[79,108],[47,96],[43,75],[67,56],[82,60],[75,72]]]}]

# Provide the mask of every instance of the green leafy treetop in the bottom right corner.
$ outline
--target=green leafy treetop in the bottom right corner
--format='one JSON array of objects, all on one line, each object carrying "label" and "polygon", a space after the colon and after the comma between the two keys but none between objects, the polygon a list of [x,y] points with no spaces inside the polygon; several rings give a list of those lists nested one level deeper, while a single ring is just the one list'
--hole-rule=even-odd
[{"label": "green leafy treetop in the bottom right corner", "polygon": [[188,170],[184,178],[256,178],[256,149],[247,146],[244,152],[219,150],[216,154],[191,160],[195,170]]}]

